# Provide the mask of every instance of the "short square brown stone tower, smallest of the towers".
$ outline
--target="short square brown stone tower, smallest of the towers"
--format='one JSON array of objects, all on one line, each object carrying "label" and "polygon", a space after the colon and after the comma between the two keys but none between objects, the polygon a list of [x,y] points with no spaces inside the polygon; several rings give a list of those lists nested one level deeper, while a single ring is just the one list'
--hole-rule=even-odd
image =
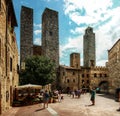
[{"label": "short square brown stone tower, smallest of the towers", "polygon": [[74,68],[80,68],[80,54],[79,53],[70,54],[70,66]]}]

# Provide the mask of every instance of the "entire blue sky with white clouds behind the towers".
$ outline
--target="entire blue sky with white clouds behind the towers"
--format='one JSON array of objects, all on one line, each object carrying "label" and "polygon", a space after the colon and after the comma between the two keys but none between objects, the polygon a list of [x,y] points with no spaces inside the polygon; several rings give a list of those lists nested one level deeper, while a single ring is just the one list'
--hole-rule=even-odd
[{"label": "entire blue sky with white clouds behind the towers", "polygon": [[13,0],[20,43],[21,6],[34,10],[34,44],[41,45],[41,16],[46,7],[59,12],[60,64],[69,66],[70,54],[80,53],[83,65],[83,35],[88,26],[96,37],[97,66],[108,61],[108,50],[120,38],[120,0]]}]

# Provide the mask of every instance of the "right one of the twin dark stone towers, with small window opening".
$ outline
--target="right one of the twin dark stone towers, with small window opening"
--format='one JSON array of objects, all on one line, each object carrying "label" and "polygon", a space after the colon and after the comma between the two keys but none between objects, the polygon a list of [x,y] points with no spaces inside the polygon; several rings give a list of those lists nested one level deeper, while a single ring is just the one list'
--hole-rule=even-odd
[{"label": "right one of the twin dark stone towers, with small window opening", "polygon": [[59,66],[58,12],[46,8],[42,14],[42,54]]}]

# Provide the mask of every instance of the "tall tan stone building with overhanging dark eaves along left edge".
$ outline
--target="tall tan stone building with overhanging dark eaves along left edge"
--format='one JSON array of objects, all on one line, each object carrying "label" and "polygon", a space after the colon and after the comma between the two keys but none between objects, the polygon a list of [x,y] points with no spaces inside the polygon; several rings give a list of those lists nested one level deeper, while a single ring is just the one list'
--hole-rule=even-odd
[{"label": "tall tan stone building with overhanging dark eaves along left edge", "polygon": [[13,102],[13,89],[18,86],[18,47],[14,28],[17,26],[12,0],[0,2],[0,114]]}]

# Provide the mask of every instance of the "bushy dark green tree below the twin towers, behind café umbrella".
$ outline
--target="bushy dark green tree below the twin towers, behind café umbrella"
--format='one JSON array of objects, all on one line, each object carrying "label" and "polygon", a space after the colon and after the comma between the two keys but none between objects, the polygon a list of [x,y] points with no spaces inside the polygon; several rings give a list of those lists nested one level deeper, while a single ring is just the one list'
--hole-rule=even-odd
[{"label": "bushy dark green tree below the twin towers, behind caf\u00e9 umbrella", "polygon": [[55,63],[44,56],[32,56],[25,60],[25,70],[20,72],[20,85],[46,85],[55,80]]}]

